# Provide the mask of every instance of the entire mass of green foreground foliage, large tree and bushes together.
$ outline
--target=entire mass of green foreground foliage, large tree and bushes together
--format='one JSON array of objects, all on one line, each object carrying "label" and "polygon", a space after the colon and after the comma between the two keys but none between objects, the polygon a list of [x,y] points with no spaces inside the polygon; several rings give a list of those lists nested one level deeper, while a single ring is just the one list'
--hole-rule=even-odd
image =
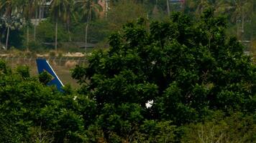
[{"label": "entire mass of green foreground foliage, large tree and bushes together", "polygon": [[255,142],[256,66],[225,17],[170,17],[111,34],[76,91],[0,61],[0,142]]}]

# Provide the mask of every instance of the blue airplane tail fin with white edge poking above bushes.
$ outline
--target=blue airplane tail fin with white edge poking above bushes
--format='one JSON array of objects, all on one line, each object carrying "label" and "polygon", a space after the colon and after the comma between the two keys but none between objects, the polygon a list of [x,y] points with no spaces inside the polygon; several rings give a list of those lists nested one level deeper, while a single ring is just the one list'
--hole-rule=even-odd
[{"label": "blue airplane tail fin with white edge poking above bushes", "polygon": [[46,59],[37,59],[37,70],[39,74],[41,74],[43,71],[47,71],[47,73],[53,77],[53,79],[47,85],[55,85],[59,91],[62,91],[63,83],[60,81],[57,74],[55,74],[55,71],[53,71]]}]

